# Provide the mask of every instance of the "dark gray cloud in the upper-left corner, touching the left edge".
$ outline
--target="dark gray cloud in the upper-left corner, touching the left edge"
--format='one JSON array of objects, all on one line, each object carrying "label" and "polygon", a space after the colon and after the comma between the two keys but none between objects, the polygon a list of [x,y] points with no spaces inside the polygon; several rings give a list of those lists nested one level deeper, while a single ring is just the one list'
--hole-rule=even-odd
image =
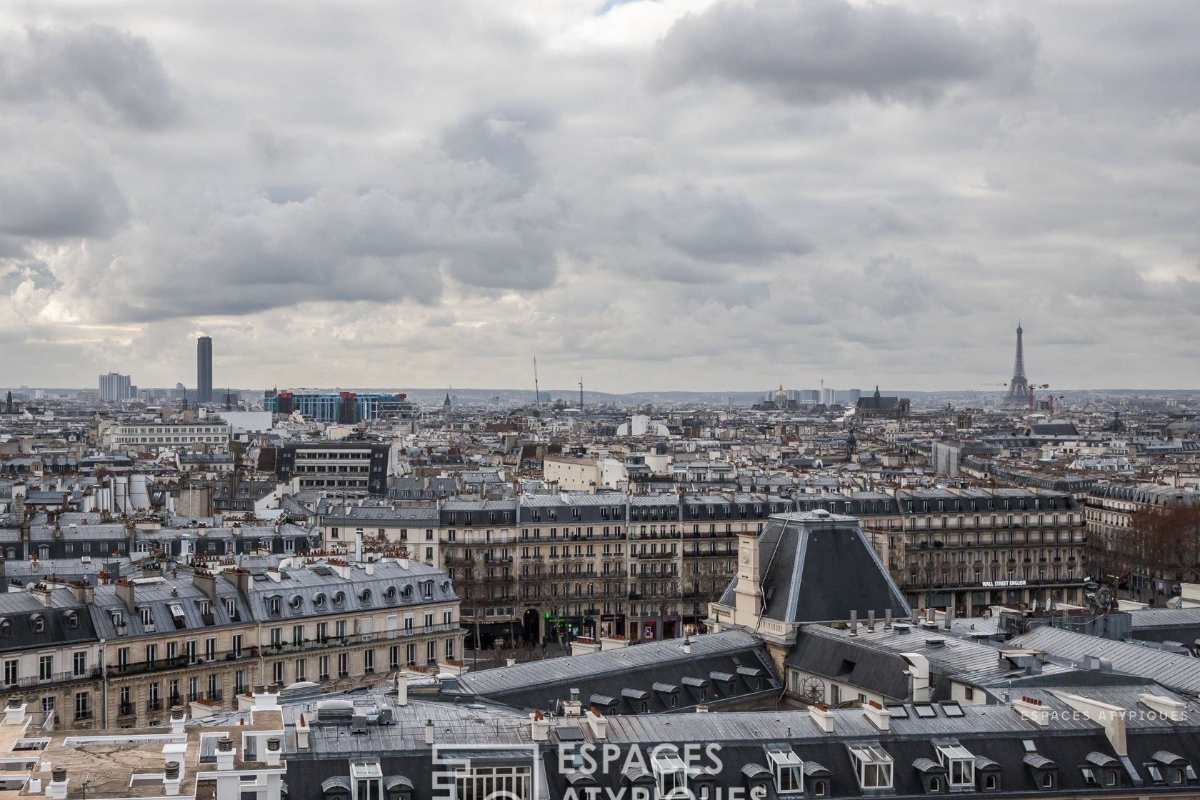
[{"label": "dark gray cloud in the upper-left corner, touching the left edge", "polygon": [[145,38],[107,25],[28,28],[8,36],[0,60],[0,98],[66,102],[106,122],[158,128],[181,103]]}]

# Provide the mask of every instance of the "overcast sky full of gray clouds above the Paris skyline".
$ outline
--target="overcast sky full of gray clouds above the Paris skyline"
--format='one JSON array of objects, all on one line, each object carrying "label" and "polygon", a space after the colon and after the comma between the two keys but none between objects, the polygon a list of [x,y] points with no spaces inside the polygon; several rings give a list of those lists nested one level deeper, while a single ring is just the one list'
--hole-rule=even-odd
[{"label": "overcast sky full of gray clouds above the Paris skyline", "polygon": [[0,385],[1200,385],[1195,0],[26,0]]}]

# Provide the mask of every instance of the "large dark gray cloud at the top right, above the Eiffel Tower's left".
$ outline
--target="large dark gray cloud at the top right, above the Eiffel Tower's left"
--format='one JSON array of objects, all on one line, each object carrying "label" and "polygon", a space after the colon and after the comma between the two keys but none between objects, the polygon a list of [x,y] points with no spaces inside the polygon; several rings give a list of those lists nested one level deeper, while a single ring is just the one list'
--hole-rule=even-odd
[{"label": "large dark gray cloud at the top right, above the Eiffel Tower's left", "polygon": [[1024,88],[1036,47],[1016,23],[962,23],[846,0],[719,0],[682,18],[655,54],[660,86],[725,80],[821,103],[941,97],[950,88]]}]

